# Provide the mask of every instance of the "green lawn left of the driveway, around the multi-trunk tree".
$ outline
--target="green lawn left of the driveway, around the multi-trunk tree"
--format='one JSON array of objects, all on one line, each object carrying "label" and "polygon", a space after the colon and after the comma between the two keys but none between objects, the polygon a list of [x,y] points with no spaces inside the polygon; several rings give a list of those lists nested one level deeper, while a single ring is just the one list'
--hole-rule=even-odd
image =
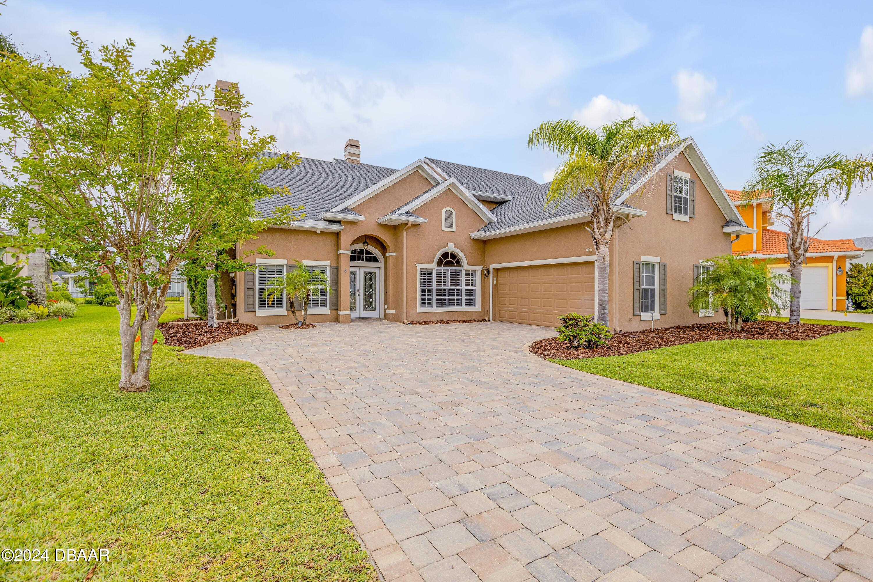
[{"label": "green lawn left of the driveway, around the multi-trunk tree", "polygon": [[117,389],[118,317],[0,325],[2,580],[375,580],[340,503],[257,366],[155,346],[152,391]]}]

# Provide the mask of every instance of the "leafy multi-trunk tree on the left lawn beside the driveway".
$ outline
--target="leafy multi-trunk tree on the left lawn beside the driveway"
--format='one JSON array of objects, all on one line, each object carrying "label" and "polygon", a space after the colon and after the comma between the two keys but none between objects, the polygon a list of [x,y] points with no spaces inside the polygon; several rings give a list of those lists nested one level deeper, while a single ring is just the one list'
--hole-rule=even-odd
[{"label": "leafy multi-trunk tree on the left lawn beside the driveway", "polygon": [[[173,270],[265,228],[254,202],[275,192],[258,178],[299,159],[265,155],[276,140],[254,127],[228,139],[215,106],[242,120],[249,104],[198,83],[215,38],[189,37],[181,51],[165,46],[139,69],[132,40],[94,52],[71,34],[80,74],[35,58],[0,59],[0,150],[10,159],[0,192],[25,233],[23,250],[106,269],[120,298],[120,389],[147,391]],[[285,208],[270,223],[293,218]],[[28,221],[42,228],[27,229]]]}]

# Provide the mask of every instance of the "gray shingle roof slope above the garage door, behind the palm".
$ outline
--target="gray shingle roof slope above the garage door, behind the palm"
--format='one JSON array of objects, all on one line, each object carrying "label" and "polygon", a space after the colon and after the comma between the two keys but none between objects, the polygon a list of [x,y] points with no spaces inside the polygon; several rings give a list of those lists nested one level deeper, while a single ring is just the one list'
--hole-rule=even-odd
[{"label": "gray shingle roof slope above the garage door, behind the palm", "polygon": [[[661,147],[655,154],[656,163],[669,156],[674,149],[680,147],[681,143],[677,142],[677,144]],[[637,171],[636,175],[632,176],[628,182],[626,188],[615,191],[613,200],[615,201],[620,198],[622,194],[629,188],[632,188],[642,177],[643,172]],[[517,192],[512,196],[512,200],[503,202],[497,208],[491,210],[491,214],[497,218],[497,221],[485,224],[484,227],[479,229],[479,232],[491,232],[513,226],[522,226],[528,223],[539,223],[550,218],[559,218],[560,216],[567,216],[577,212],[589,212],[591,210],[591,205],[584,196],[565,198],[560,204],[552,203],[549,204],[548,208],[544,208],[546,195],[551,185],[552,182],[537,184],[533,188]]]}]

